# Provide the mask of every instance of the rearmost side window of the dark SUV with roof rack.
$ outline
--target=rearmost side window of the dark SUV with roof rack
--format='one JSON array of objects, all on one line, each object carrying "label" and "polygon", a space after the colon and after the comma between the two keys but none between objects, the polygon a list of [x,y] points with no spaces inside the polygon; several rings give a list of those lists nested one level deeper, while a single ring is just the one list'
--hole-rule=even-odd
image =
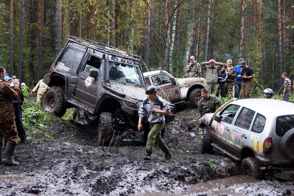
[{"label": "rearmost side window of the dark SUV with roof rack", "polygon": [[75,69],[79,67],[83,58],[83,54],[84,53],[82,51],[67,48],[59,62],[62,62],[68,67],[73,67]]}]

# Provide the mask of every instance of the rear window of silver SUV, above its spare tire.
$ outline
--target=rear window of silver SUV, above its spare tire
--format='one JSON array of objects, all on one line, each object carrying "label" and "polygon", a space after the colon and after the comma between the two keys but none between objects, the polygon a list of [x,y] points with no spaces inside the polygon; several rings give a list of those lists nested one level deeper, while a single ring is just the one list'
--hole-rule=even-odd
[{"label": "rear window of silver SUV, above its spare tire", "polygon": [[285,115],[277,117],[276,134],[283,136],[287,131],[294,128],[294,115]]}]

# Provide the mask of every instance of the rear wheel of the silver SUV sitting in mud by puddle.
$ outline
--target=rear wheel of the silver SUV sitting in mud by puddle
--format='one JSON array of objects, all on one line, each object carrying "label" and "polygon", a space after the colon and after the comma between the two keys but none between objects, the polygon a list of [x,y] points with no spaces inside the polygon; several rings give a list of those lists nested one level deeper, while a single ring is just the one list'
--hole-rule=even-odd
[{"label": "rear wheel of the silver SUV sitting in mud by puddle", "polygon": [[248,175],[254,179],[262,178],[262,171],[260,165],[254,157],[246,157],[241,163],[241,171],[243,175]]}]

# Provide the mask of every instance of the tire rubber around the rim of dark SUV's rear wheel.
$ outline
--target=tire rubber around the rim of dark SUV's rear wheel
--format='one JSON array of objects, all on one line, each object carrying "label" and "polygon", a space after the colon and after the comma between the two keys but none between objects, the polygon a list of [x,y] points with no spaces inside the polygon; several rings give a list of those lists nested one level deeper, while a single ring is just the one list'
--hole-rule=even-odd
[{"label": "tire rubber around the rim of dark SUV's rear wheel", "polygon": [[[46,108],[44,108],[44,104],[47,105],[47,101],[48,101],[48,96],[51,96],[51,93],[55,94],[55,101],[57,104],[57,107],[55,107],[55,110],[52,111],[48,111],[46,110]],[[52,86],[50,87],[46,93],[44,94],[43,98],[42,98],[42,107],[44,110],[50,112],[51,114],[54,114],[57,117],[63,117],[63,115],[66,112],[66,102],[65,102],[65,98],[64,98],[64,89],[58,86]],[[47,107],[47,106],[46,106]]]}]

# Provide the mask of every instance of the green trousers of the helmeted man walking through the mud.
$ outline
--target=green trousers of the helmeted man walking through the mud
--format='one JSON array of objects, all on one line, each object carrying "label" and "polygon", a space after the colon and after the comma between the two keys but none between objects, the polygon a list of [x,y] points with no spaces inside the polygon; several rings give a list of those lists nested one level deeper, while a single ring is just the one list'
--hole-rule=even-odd
[{"label": "green trousers of the helmeted man walking through the mud", "polygon": [[165,123],[149,123],[151,130],[148,133],[148,139],[146,143],[146,152],[148,154],[152,154],[154,142],[160,147],[160,149],[168,153],[170,149],[168,146],[164,143],[162,137],[161,137],[161,130],[164,128]]}]

